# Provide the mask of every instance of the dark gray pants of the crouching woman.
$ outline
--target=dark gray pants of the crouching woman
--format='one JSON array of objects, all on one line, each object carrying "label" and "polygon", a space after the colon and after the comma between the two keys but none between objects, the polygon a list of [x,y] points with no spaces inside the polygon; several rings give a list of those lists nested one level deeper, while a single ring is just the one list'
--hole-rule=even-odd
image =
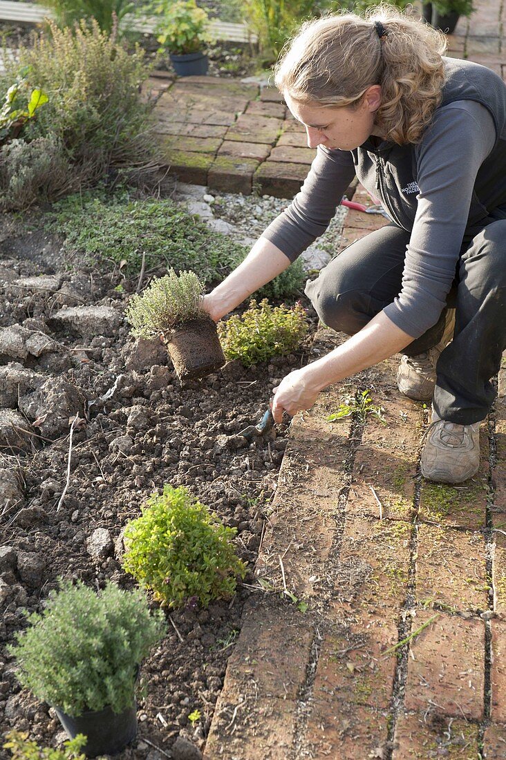
[{"label": "dark gray pants of the crouching woman", "polygon": [[[401,290],[408,242],[406,230],[385,226],[308,280],[306,295],[325,325],[354,335],[391,303]],[[464,242],[447,306],[456,309],[455,333],[438,360],[434,409],[443,420],[470,425],[484,420],[492,406],[490,379],[506,349],[506,219],[491,220]],[[435,346],[445,312],[403,353],[416,356]]]}]

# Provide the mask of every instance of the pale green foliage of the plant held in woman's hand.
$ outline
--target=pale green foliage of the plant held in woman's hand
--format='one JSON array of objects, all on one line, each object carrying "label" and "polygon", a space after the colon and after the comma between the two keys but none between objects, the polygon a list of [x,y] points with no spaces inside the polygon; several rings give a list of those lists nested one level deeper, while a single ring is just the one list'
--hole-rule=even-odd
[{"label": "pale green foliage of the plant held in woman's hand", "polygon": [[195,272],[173,269],[156,277],[142,296],[132,296],[126,318],[135,337],[158,337],[189,319],[208,318],[202,309],[204,286]]}]

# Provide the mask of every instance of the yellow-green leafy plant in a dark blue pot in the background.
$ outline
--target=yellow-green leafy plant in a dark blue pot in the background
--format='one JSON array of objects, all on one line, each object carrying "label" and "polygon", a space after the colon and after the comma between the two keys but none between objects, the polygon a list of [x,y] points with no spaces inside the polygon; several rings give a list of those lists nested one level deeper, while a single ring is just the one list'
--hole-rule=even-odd
[{"label": "yellow-green leafy plant in a dark blue pot in the background", "polygon": [[156,26],[159,52],[167,51],[174,71],[180,77],[207,74],[205,46],[211,41],[208,13],[197,8],[195,0],[161,0],[153,10],[160,16]]}]

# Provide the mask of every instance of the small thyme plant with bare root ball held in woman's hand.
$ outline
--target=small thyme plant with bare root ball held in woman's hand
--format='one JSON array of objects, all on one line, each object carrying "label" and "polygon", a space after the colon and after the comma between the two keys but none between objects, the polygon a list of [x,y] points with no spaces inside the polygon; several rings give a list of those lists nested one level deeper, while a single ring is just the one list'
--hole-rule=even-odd
[{"label": "small thyme plant with bare root ball held in woman's hand", "polygon": [[204,286],[195,272],[173,269],[132,296],[126,318],[135,337],[161,337],[177,377],[201,378],[225,363],[215,322],[202,309]]}]

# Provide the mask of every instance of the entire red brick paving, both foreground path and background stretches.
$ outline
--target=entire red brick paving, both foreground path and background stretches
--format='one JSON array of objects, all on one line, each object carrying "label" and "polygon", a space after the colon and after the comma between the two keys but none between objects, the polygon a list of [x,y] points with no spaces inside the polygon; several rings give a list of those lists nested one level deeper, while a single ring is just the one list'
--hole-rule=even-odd
[{"label": "entire red brick paving, both foreground path and background stretches", "polygon": [[[476,5],[451,54],[506,78],[506,2]],[[158,112],[181,179],[285,197],[305,176],[310,151],[271,90],[168,83]],[[383,223],[348,211],[342,247]],[[320,330],[315,356],[342,339]],[[427,410],[399,395],[396,364],[294,420],[207,760],[506,758],[506,361],[460,487],[420,477]],[[326,421],[365,389],[384,420]]]}]

